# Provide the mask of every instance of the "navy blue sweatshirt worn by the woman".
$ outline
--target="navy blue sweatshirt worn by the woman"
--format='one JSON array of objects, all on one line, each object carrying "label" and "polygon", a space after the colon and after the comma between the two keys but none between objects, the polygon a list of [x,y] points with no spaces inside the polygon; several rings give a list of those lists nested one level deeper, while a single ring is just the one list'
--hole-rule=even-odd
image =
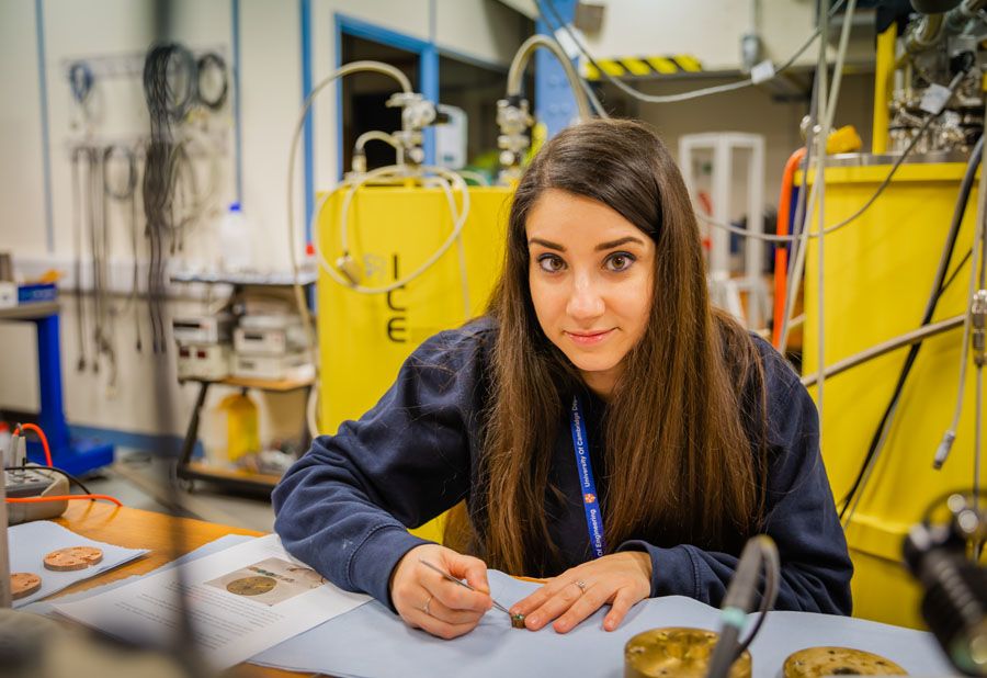
[{"label": "navy blue sweatshirt worn by the woman", "polygon": [[[388,583],[401,556],[428,543],[410,534],[477,484],[481,413],[496,327],[481,319],[441,332],[405,362],[397,381],[359,421],[317,438],[274,489],[275,531],[292,555],[337,586],[392,607]],[[815,404],[774,349],[756,339],[768,391],[769,468],[764,531],[782,564],[776,609],[849,614],[852,565],[819,455]],[[602,410],[586,411],[590,459],[605,510]],[[559,422],[549,481],[568,497],[547,507],[563,569],[591,558],[568,420]],[[661,534],[616,545],[651,556],[651,596],[689,596],[719,606],[742,541],[724,552],[669,544]],[[558,572],[525,573],[552,576]]]}]

